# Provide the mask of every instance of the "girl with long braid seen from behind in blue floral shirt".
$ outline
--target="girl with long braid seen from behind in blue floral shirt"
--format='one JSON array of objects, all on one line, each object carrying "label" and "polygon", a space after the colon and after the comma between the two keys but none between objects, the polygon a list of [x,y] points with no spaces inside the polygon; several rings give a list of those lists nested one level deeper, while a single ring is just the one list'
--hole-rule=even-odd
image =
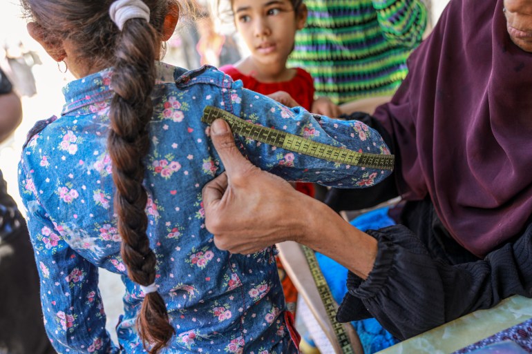
[{"label": "girl with long braid seen from behind in blue floral shirt", "polygon": [[[61,116],[32,128],[19,164],[57,352],[298,353],[274,248],[231,254],[205,228],[202,187],[225,169],[202,112],[216,106],[321,143],[388,154],[380,135],[286,108],[215,68],[158,61],[183,10],[174,1],[21,2],[30,35],[77,78],[64,87]],[[370,186],[389,175],[236,139],[250,161],[292,181]],[[98,268],[126,286],[117,344],[105,330]]]}]

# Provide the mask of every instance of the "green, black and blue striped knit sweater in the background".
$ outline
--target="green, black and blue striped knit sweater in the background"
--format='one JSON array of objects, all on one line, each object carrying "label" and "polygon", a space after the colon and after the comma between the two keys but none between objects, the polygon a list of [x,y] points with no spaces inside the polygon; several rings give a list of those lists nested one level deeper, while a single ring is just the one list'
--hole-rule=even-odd
[{"label": "green, black and blue striped knit sweater in the background", "polygon": [[290,66],[314,77],[316,95],[336,104],[392,95],[406,58],[421,41],[426,8],[419,0],[305,0],[307,26],[296,35]]}]

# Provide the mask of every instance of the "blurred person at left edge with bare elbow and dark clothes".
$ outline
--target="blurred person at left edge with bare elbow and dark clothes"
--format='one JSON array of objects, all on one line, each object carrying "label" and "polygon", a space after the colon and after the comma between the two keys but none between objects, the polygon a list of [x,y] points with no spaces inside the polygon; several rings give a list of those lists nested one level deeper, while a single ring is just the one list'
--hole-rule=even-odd
[{"label": "blurred person at left edge with bare elbow and dark clothes", "polygon": [[[22,108],[0,70],[0,142],[19,126]],[[55,353],[44,331],[39,275],[28,228],[0,171],[0,353]]]}]

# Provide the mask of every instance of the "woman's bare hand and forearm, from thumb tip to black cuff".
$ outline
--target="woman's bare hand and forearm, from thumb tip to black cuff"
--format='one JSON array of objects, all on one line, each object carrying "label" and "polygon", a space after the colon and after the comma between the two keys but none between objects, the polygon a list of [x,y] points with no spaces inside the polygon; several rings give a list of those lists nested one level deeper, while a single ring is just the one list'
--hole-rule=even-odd
[{"label": "woman's bare hand and forearm, from thumb tip to black cuff", "polygon": [[368,276],[377,255],[373,237],[247,161],[225,121],[213,122],[211,138],[226,170],[203,188],[205,226],[218,248],[249,254],[292,240]]}]

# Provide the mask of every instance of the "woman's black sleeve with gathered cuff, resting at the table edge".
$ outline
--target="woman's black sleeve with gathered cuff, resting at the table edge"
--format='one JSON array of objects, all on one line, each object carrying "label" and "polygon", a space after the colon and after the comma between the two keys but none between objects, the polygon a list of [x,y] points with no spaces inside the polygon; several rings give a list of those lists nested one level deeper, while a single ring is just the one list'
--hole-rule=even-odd
[{"label": "woman's black sleeve with gathered cuff, resting at the table edge", "polygon": [[484,259],[456,265],[430,257],[405,226],[368,233],[379,242],[377,259],[365,281],[349,273],[341,322],[372,315],[404,340],[511,295],[532,297],[532,224]]}]

